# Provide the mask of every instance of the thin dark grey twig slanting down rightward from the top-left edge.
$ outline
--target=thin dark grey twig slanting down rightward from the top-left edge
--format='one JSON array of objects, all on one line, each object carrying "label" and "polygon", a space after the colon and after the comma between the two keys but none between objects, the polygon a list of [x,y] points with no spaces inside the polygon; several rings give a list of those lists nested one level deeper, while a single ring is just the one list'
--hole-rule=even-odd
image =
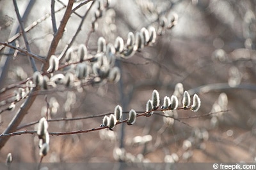
[{"label": "thin dark grey twig slanting down rightward from the top-left edge", "polygon": [[[24,31],[24,25],[23,25],[23,22],[22,22],[22,18],[20,17],[20,12],[19,12],[19,8],[18,8],[17,1],[16,1],[16,0],[13,0],[13,5],[14,5],[14,9],[15,9],[15,12],[16,12],[16,15],[17,15],[17,18],[18,18],[18,21],[19,21],[20,30],[21,30],[21,33],[22,33],[22,36],[23,36],[23,39],[24,39],[25,46],[26,46],[28,52],[31,52],[30,47],[29,47],[29,44],[28,44],[27,34],[26,34],[26,32]],[[33,71],[34,71],[34,72],[37,71],[34,58],[33,58],[33,57],[29,57],[29,60],[30,60],[30,62],[31,62],[31,66],[32,66]]]}]

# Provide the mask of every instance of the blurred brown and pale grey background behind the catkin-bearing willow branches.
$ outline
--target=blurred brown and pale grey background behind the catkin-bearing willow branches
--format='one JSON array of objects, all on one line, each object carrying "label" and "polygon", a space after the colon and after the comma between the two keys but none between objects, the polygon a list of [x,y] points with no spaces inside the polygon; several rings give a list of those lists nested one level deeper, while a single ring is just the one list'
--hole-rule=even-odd
[{"label": "blurred brown and pale grey background behind the catkin-bearing willow branches", "polygon": [[[22,13],[29,1],[17,3]],[[65,11],[63,4],[67,1],[55,2],[55,10],[60,9],[56,12],[57,24],[60,24]],[[77,15],[72,14],[56,55],[60,55],[74,36],[81,21],[79,15],[83,16],[90,4],[79,8]],[[161,104],[164,96],[170,97],[173,93],[181,100],[183,92],[180,94],[177,87],[182,84],[191,96],[198,94],[202,101],[201,108],[196,113],[173,111],[173,117],[185,118],[179,119],[181,122],[154,114],[139,117],[131,126],[116,125],[114,131],[103,129],[84,134],[50,136],[50,150],[44,162],[255,161],[256,1],[113,0],[109,1],[109,8],[97,20],[95,31],[90,32],[96,4],[85,18],[72,44],[74,48],[88,41],[88,52],[93,53],[97,51],[100,36],[110,43],[115,43],[117,36],[126,41],[128,32],[140,31],[149,25],[157,29],[156,43],[145,46],[129,59],[118,59],[121,79],[117,83],[89,85],[82,90],[42,90],[20,125],[45,117],[45,96],[50,104],[51,118],[84,117],[113,113],[117,104],[124,111],[145,111],[154,89],[160,94]],[[47,55],[53,37],[49,14],[51,1],[35,1],[23,21],[25,27],[39,22],[27,32],[27,36],[31,51],[42,57]],[[0,41],[4,42],[12,38],[17,28],[12,1],[0,1],[0,16]],[[159,24],[170,19],[177,21],[177,24],[171,29],[160,30]],[[13,42],[24,48],[21,37]],[[33,75],[25,55],[18,53],[13,57],[13,52],[3,47],[0,54],[1,63],[6,58],[9,62],[8,67],[4,67],[7,76],[1,76],[1,88]],[[38,68],[41,64],[36,62]],[[177,83],[181,84],[177,86]],[[10,94],[12,90],[0,94],[1,101]],[[1,132],[22,102],[17,103],[15,110],[1,113]],[[78,131],[99,127],[100,124],[102,117],[49,122],[49,132]],[[35,126],[19,131],[35,130]],[[9,152],[13,162],[38,162],[38,137],[22,134],[10,138],[1,148],[1,162],[5,161]]]}]

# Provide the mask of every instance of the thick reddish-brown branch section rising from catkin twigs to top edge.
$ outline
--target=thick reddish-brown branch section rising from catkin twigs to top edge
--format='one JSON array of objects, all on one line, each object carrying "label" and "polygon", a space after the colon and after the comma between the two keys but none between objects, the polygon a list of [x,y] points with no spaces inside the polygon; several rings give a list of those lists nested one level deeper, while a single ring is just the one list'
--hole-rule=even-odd
[{"label": "thick reddish-brown branch section rising from catkin twigs to top edge", "polygon": [[49,59],[50,59],[51,55],[53,55],[56,52],[58,43],[60,42],[60,39],[63,36],[68,19],[70,18],[70,15],[72,13],[73,4],[74,4],[74,0],[68,1],[68,5],[67,5],[66,11],[64,13],[64,16],[61,20],[60,27],[58,28],[58,31],[56,32],[56,34],[54,34],[54,38],[52,39],[52,43],[49,48],[49,52],[47,53],[47,57],[46,57],[47,62],[44,64],[43,69],[42,69],[44,72],[47,71],[47,68],[49,67]]}]

